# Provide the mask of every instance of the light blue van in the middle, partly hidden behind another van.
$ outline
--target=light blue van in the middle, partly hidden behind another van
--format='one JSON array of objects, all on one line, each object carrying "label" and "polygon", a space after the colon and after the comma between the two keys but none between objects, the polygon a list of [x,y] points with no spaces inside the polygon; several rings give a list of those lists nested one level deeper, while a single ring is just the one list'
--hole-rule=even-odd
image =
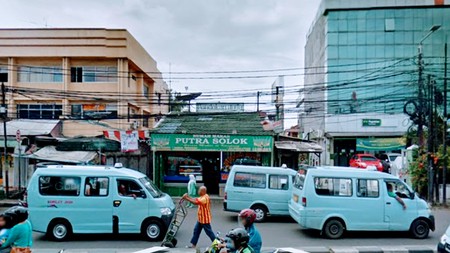
[{"label": "light blue van in the middle, partly hidden behind another van", "polygon": [[234,165],[225,185],[224,210],[251,208],[258,222],[268,215],[289,215],[295,174],[288,168]]}]

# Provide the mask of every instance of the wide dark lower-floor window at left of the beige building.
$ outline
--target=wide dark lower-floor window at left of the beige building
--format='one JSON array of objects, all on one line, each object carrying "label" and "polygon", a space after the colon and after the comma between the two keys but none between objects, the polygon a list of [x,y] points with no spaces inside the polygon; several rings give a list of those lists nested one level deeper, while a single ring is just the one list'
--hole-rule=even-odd
[{"label": "wide dark lower-floor window at left of the beige building", "polygon": [[59,119],[62,115],[62,105],[53,104],[19,104],[17,118],[19,119]]}]

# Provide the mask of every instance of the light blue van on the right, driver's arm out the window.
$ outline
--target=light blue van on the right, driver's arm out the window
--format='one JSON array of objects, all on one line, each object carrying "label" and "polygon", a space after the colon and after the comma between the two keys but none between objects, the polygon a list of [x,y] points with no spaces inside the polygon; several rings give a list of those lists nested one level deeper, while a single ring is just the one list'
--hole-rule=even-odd
[{"label": "light blue van on the right, driver's arm out the window", "polygon": [[[397,195],[406,209],[389,196]],[[427,238],[434,231],[428,204],[400,179],[376,171],[319,167],[295,176],[289,213],[301,227],[321,230],[331,239],[345,231],[409,231]]]}]

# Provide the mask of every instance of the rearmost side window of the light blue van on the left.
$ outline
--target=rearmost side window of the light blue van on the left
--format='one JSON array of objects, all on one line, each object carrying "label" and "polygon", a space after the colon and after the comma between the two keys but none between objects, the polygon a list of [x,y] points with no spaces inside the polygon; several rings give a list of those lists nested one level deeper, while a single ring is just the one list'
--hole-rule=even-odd
[{"label": "rearmost side window of the light blue van on the left", "polygon": [[79,177],[39,177],[39,193],[44,196],[79,196]]}]

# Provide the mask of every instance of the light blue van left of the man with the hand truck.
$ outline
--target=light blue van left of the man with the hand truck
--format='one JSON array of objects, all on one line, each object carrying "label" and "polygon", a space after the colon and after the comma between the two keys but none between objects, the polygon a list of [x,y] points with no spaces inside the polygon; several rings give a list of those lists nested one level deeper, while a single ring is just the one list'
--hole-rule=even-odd
[{"label": "light blue van left of the man with the hand truck", "polygon": [[57,241],[72,233],[141,233],[164,237],[174,203],[144,174],[122,168],[52,165],[28,186],[33,229]]}]

